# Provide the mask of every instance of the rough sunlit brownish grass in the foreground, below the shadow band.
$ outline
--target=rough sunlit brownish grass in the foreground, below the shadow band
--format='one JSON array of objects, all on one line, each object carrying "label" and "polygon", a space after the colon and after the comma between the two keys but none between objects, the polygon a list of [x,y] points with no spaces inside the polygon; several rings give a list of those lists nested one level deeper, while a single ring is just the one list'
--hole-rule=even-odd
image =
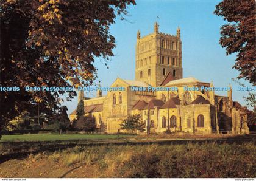
[{"label": "rough sunlit brownish grass in the foreground, below the shadow band", "polygon": [[254,143],[75,146],[0,162],[0,177],[256,177]]}]

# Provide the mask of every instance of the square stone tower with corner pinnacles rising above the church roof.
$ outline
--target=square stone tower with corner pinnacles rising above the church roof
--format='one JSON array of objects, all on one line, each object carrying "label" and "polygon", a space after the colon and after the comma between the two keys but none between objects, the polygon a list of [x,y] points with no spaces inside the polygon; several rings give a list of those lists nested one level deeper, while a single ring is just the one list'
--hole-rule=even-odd
[{"label": "square stone tower with corner pinnacles rising above the church roof", "polygon": [[180,29],[177,28],[176,36],[160,33],[155,22],[154,33],[142,38],[140,31],[137,33],[135,80],[156,87],[167,75],[182,78]]}]

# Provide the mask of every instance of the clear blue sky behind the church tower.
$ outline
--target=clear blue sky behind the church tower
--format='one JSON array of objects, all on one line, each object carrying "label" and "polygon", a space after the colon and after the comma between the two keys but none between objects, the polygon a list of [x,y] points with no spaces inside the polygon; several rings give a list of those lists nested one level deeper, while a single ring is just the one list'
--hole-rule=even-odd
[{"label": "clear blue sky behind the church tower", "polygon": [[[238,84],[232,81],[239,72],[232,69],[235,55],[226,56],[226,50],[219,45],[220,27],[226,24],[221,17],[213,14],[215,0],[137,0],[137,5],[127,10],[128,21],[116,18],[110,33],[115,36],[116,48],[107,69],[105,63],[96,61],[98,78],[104,87],[110,86],[116,77],[133,80],[135,78],[135,43],[137,31],[141,36],[153,32],[154,22],[160,24],[160,32],[176,35],[179,26],[182,39],[183,77],[195,77],[204,82],[213,81],[215,87],[232,84],[233,100],[245,105],[243,96],[247,92],[238,92]],[[243,81],[247,86],[249,83]],[[106,94],[106,92],[104,92]],[[216,92],[227,95],[227,92]],[[87,95],[93,97],[94,92]],[[77,98],[65,103],[68,114],[77,106]]]}]

